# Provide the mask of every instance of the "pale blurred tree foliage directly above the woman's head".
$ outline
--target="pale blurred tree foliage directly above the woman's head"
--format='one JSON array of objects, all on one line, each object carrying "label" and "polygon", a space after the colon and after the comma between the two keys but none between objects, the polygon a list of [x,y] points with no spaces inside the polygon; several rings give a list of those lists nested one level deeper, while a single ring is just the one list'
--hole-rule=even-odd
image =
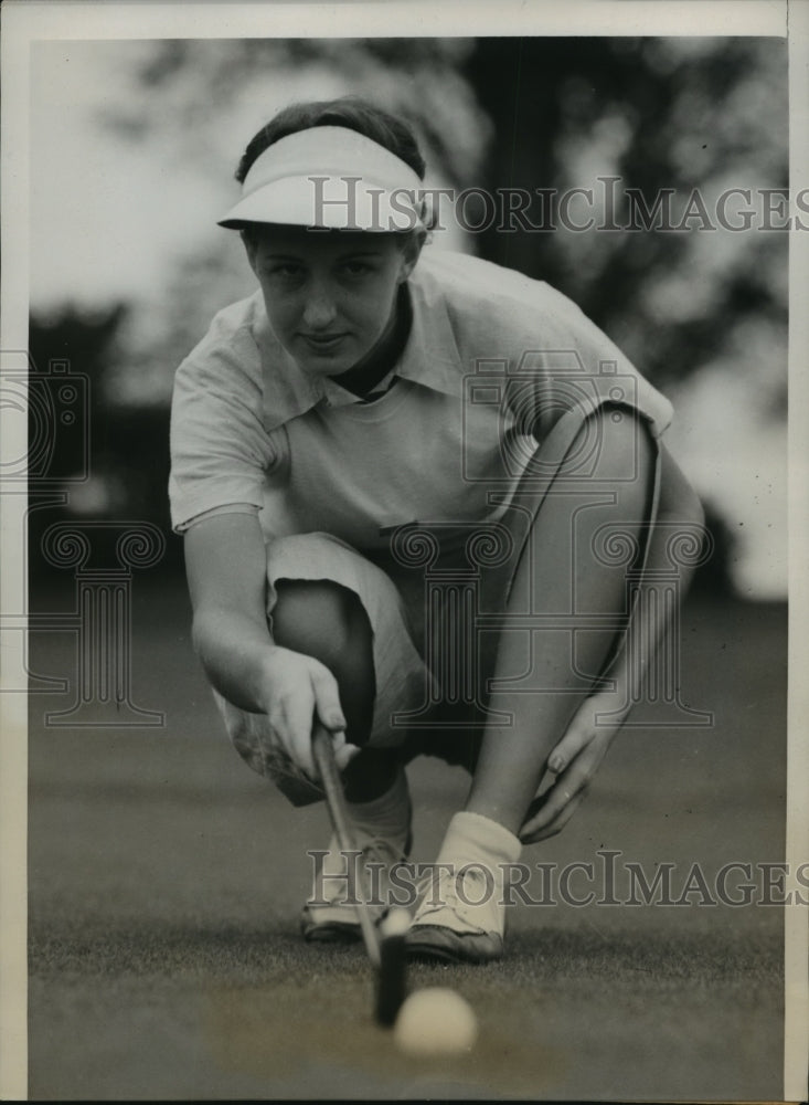
[{"label": "pale blurred tree foliage directly above the woman's head", "polygon": [[473,50],[472,39],[430,38],[156,42],[131,73],[137,95],[105,105],[100,117],[134,140],[170,134],[177,156],[206,171],[221,151],[235,170],[241,149],[280,107],[366,95],[409,118],[428,160],[457,182],[479,171],[491,130],[460,72]]}]

